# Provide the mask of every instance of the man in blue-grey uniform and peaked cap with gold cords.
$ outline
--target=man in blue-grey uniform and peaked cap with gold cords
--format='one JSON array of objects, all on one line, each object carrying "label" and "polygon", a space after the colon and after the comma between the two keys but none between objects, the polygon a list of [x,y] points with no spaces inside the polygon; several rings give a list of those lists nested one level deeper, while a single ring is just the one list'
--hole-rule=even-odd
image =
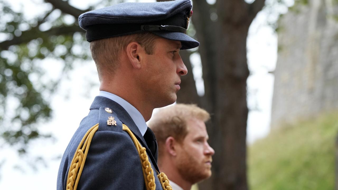
[{"label": "man in blue-grey uniform and peaked cap with gold cords", "polygon": [[170,189],[146,121],[176,100],[187,74],[179,50],[199,45],[186,35],[191,15],[190,0],[176,0],[120,3],[79,16],[100,92],[65,150],[57,190]]}]

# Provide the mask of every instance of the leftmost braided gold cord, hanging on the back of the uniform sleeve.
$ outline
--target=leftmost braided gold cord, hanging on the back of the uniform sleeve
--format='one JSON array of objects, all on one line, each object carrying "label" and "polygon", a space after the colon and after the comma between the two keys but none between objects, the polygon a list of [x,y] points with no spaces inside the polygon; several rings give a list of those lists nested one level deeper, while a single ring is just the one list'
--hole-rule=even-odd
[{"label": "leftmost braided gold cord, hanging on the back of the uniform sleeve", "polygon": [[80,176],[83,170],[84,162],[86,161],[87,158],[90,143],[92,142],[92,138],[98,128],[99,124],[92,126],[83,136],[81,142],[79,143],[79,146],[75,151],[72,163],[70,164],[70,168],[68,171],[67,187],[66,187],[67,190],[76,190],[77,184],[79,183]]}]

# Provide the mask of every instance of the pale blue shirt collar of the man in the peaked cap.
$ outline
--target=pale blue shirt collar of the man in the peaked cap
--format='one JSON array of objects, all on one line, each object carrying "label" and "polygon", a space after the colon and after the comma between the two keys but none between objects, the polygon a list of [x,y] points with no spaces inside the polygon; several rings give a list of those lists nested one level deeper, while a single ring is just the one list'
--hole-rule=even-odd
[{"label": "pale blue shirt collar of the man in the peaked cap", "polygon": [[136,126],[139,128],[142,136],[146,133],[146,130],[148,128],[146,121],[144,120],[141,113],[134,106],[132,106],[129,102],[127,102],[126,100],[124,100],[123,98],[115,94],[112,94],[106,91],[100,91],[99,96],[109,98],[115,101],[116,103],[120,104],[128,112],[131,119],[134,121]]}]

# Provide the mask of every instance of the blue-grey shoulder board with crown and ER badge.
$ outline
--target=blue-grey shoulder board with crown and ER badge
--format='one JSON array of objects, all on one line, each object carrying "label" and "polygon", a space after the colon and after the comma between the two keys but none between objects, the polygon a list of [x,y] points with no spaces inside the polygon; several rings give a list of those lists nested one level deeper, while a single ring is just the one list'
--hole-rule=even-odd
[{"label": "blue-grey shoulder board with crown and ER badge", "polygon": [[110,130],[123,132],[122,121],[117,117],[117,113],[112,108],[100,107],[99,111],[99,131]]}]

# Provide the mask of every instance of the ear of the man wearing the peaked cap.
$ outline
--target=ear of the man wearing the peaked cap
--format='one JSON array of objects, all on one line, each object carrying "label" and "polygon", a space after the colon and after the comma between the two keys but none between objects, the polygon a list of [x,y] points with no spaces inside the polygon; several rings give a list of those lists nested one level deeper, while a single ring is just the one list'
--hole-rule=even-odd
[{"label": "ear of the man wearing the peaked cap", "polygon": [[143,48],[137,42],[130,42],[127,45],[126,53],[131,65],[135,69],[141,68],[141,58],[143,51],[144,51]]}]

